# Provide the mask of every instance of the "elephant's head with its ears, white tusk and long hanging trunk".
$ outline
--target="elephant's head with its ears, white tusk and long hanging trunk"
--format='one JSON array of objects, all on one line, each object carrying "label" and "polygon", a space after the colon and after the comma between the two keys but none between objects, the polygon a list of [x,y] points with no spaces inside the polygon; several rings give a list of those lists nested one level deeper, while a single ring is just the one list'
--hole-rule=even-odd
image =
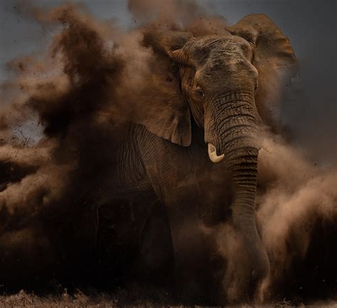
[{"label": "elephant's head with its ears, white tusk and long hanging trunk", "polygon": [[240,279],[256,287],[269,273],[255,223],[259,125],[272,123],[271,100],[296,73],[294,51],[264,15],[246,16],[219,36],[161,33],[152,46],[178,63],[181,88],[176,91],[182,95],[166,95],[164,103],[145,108],[139,122],[185,147],[191,144],[191,115],[204,130],[210,160],[225,164],[232,181],[233,223],[251,263]]}]

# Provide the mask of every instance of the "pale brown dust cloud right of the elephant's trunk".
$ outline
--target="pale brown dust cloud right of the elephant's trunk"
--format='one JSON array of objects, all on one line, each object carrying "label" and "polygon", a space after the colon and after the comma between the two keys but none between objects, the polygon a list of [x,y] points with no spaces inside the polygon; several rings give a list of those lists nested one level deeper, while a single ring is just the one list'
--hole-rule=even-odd
[{"label": "pale brown dust cloud right of the elephant's trunk", "polygon": [[268,292],[336,294],[336,161],[319,166],[266,134],[259,164],[257,218],[272,263]]}]

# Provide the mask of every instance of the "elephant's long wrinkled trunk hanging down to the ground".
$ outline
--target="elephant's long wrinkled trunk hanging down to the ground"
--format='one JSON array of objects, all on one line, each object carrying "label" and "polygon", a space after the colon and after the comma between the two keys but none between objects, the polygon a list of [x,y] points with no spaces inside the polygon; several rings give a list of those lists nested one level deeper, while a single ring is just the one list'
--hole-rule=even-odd
[{"label": "elephant's long wrinkled trunk hanging down to the ground", "polygon": [[[247,285],[253,285],[253,292],[269,274],[269,260],[255,222],[259,122],[250,93],[235,92],[214,100],[205,112],[205,141],[210,144],[209,150],[215,147],[218,152],[215,159],[224,156],[233,187],[232,219],[242,238],[240,253],[249,263],[238,279],[246,289]],[[210,155],[210,159],[213,161],[214,157]]]}]

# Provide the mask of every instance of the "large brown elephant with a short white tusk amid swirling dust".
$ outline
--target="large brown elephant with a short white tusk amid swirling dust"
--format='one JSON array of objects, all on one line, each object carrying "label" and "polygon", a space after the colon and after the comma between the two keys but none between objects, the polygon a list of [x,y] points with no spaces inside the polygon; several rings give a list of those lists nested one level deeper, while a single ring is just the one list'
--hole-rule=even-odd
[{"label": "large brown elephant with a short white tusk amid swirling dust", "polygon": [[[257,297],[270,270],[255,219],[260,127],[277,129],[274,102],[282,99],[284,84],[298,70],[294,51],[262,14],[246,16],[221,34],[144,29],[143,43],[164,70],[142,93],[142,104],[132,105],[132,120],[121,129],[109,168],[101,171],[100,179],[106,180],[92,184],[99,187],[90,196],[95,202],[76,213],[75,237],[89,247],[102,233],[102,221],[112,215],[119,229],[114,243],[131,238],[136,231],[118,225],[118,213],[112,213],[112,204],[122,204],[129,225],[145,230],[144,262],[155,266],[146,253],[153,247],[151,225],[155,232],[169,225],[169,236],[164,233],[176,271],[183,273],[181,285],[186,294],[196,294],[212,288],[214,277],[207,271],[223,263],[210,262],[220,248],[203,226],[230,221],[243,257],[231,260],[235,266],[226,273],[226,299]],[[165,209],[168,219],[154,215],[157,223],[146,223],[157,207]],[[203,280],[203,287],[197,280]]]}]

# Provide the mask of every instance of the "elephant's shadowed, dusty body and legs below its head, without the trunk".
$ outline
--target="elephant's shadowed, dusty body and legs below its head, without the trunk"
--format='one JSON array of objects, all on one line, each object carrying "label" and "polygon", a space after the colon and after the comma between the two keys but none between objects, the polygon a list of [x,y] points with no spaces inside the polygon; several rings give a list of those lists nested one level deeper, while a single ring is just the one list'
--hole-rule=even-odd
[{"label": "elephant's shadowed, dusty body and legs below its head, without the trunk", "polygon": [[[186,300],[207,302],[210,294],[215,298],[215,293],[222,288],[223,277],[219,277],[216,283],[212,281],[215,268],[223,271],[225,265],[220,257],[215,257],[218,255],[215,238],[208,235],[203,226],[228,221],[231,188],[228,177],[223,176],[226,171],[208,158],[203,131],[196,125],[190,147],[172,144],[142,125],[131,124],[129,129],[128,140],[120,144],[119,151],[120,155],[137,161],[137,164],[125,161],[130,168],[129,176],[125,178],[125,165],[120,164],[117,156],[113,168],[117,185],[112,187],[106,183],[107,186],[100,186],[101,196],[109,196],[108,191],[114,191],[111,199],[100,201],[98,213],[102,221],[114,225],[116,230],[108,238],[112,250],[112,260],[108,262],[117,261],[121,268],[125,267],[125,257],[122,260],[114,257],[116,252],[124,255],[123,251],[133,245],[134,253],[140,250],[140,260],[136,260],[140,264],[136,267],[144,267],[145,275],[152,270],[157,272],[157,269],[161,275],[173,257],[175,269],[171,274],[178,284],[180,296]],[[134,145],[132,150],[129,144]],[[162,206],[169,225],[163,222]],[[116,215],[116,208],[120,208],[121,215]],[[149,218],[153,211],[160,212],[156,217],[159,225],[144,231],[153,223]],[[163,238],[161,233],[166,233],[167,229],[169,238],[167,234]],[[100,238],[105,230],[98,233]],[[159,237],[157,233],[160,233]],[[109,236],[109,232],[105,234]],[[132,272],[133,260],[131,258],[129,263]],[[161,275],[159,280],[162,278]]]}]

